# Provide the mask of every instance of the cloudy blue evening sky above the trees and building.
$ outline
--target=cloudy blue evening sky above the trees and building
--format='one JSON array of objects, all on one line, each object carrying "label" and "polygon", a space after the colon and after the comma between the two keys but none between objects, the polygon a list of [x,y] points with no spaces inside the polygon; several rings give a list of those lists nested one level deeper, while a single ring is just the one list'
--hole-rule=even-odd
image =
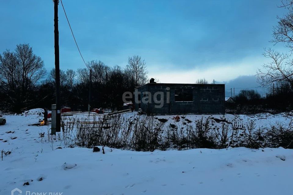
[{"label": "cloudy blue evening sky above the trees and building", "polygon": [[[149,76],[162,83],[194,83],[203,77],[229,82],[254,75],[267,60],[263,48],[273,46],[269,40],[276,16],[286,11],[277,8],[279,3],[63,0],[85,61],[125,66],[128,56],[141,55]],[[45,67],[53,68],[53,14],[52,0],[1,1],[0,52],[29,43]],[[60,68],[85,67],[61,4],[59,34]]]}]

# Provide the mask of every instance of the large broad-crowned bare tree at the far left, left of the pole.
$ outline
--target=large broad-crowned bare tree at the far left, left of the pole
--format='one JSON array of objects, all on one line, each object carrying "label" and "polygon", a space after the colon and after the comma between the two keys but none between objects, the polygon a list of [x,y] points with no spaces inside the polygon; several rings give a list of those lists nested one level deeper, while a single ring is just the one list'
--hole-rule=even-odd
[{"label": "large broad-crowned bare tree at the far left, left of the pole", "polygon": [[0,54],[0,77],[8,102],[15,111],[28,104],[36,84],[46,75],[44,62],[29,44],[18,44],[14,52]]}]

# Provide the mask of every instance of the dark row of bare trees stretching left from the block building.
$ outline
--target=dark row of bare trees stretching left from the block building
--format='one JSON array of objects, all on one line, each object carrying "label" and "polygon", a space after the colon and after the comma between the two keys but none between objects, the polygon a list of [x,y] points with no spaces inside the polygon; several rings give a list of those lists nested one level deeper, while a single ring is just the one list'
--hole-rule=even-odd
[{"label": "dark row of bare trees stretching left from the block building", "polygon": [[[146,62],[139,56],[128,58],[125,67],[87,62],[87,67],[60,69],[61,105],[87,110],[90,69],[92,70],[91,108],[120,109],[122,94],[147,83]],[[29,44],[18,44],[14,51],[0,54],[0,109],[21,112],[30,108],[51,108],[55,104],[55,69],[49,72],[44,61]]]}]

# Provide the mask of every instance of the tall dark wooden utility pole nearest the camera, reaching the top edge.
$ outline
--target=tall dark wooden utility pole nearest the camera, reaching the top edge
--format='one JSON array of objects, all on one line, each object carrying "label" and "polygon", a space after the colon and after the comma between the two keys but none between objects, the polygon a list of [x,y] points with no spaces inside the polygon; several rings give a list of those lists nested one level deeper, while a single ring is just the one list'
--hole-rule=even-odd
[{"label": "tall dark wooden utility pole nearest the camera, reaching the top edge", "polygon": [[[58,31],[58,3],[54,1],[54,44],[55,44],[55,83],[56,83],[56,132],[60,132],[61,105],[60,105],[60,69],[59,69],[59,31]],[[55,133],[56,134],[56,133]]]}]

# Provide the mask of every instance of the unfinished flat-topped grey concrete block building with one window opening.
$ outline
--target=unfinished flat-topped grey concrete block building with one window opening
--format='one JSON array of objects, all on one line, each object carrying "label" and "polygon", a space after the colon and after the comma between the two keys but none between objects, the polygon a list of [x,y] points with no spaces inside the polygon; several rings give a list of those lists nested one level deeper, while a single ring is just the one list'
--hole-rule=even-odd
[{"label": "unfinished flat-topped grey concrete block building with one window opening", "polygon": [[225,114],[225,84],[147,83],[135,90],[135,109],[148,115]]}]

